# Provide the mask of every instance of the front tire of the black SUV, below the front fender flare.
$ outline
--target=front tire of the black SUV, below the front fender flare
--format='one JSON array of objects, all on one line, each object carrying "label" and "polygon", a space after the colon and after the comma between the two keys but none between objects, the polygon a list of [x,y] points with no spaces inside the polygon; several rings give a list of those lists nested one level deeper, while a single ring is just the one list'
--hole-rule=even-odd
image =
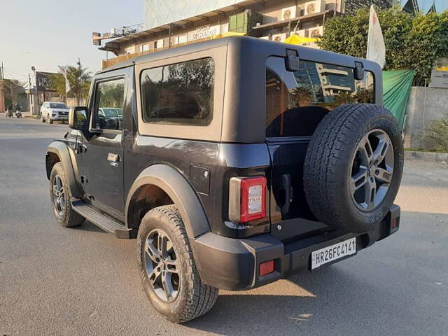
[{"label": "front tire of the black SUV, below the front fender flare", "polygon": [[[56,176],[60,176],[64,186],[65,207],[64,214],[62,216],[58,216],[57,211],[55,210],[55,203],[53,201],[53,181],[55,180]],[[64,226],[64,228],[72,228],[74,226],[81,225],[85,221],[85,218],[83,216],[80,216],[80,214],[78,214],[71,208],[70,198],[71,191],[69,188],[69,183],[66,179],[64,168],[62,167],[61,162],[57,162],[51,169],[50,174],[50,202],[52,204],[53,214],[55,214],[57,223]]]}]

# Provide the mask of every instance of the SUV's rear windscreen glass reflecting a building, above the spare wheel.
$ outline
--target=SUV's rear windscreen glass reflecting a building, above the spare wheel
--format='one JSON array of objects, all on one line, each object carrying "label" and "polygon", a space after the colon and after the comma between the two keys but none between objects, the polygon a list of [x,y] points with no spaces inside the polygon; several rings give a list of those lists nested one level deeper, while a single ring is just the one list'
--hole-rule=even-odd
[{"label": "SUV's rear windscreen glass reflecting a building, above the spare wheel", "polygon": [[266,137],[309,137],[332,109],[343,104],[374,103],[374,76],[365,71],[301,61],[286,71],[284,59],[269,57],[266,68]]}]

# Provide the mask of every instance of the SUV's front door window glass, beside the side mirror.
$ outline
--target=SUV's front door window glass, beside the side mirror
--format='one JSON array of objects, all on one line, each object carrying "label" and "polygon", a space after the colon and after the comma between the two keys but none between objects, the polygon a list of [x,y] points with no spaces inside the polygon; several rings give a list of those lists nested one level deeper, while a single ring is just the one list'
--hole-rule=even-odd
[{"label": "SUV's front door window glass, beside the side mirror", "polygon": [[125,79],[97,84],[92,127],[100,130],[123,130]]}]

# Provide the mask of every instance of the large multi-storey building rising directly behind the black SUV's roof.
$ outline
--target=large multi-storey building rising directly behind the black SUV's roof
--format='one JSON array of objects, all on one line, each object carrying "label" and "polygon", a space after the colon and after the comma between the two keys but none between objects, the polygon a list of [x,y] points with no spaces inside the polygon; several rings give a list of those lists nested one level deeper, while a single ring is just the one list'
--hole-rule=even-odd
[{"label": "large multi-storey building rising directly behind the black SUV's roof", "polygon": [[[315,38],[325,20],[388,0],[146,0],[144,29],[106,42],[103,68],[156,50],[195,43],[228,31],[284,41],[290,34]],[[94,44],[116,36],[94,33]],[[110,58],[110,55],[113,55]]]}]

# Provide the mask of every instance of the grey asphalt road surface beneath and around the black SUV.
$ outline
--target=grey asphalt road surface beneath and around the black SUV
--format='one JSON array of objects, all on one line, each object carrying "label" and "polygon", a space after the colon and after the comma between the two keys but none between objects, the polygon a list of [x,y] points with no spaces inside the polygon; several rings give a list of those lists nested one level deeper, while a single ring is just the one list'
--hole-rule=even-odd
[{"label": "grey asphalt road surface beneath and around the black SUV", "polygon": [[400,231],[330,267],[221,291],[165,321],[141,290],[134,240],[57,225],[44,150],[66,125],[0,115],[0,335],[448,335],[448,166],[406,162]]}]

